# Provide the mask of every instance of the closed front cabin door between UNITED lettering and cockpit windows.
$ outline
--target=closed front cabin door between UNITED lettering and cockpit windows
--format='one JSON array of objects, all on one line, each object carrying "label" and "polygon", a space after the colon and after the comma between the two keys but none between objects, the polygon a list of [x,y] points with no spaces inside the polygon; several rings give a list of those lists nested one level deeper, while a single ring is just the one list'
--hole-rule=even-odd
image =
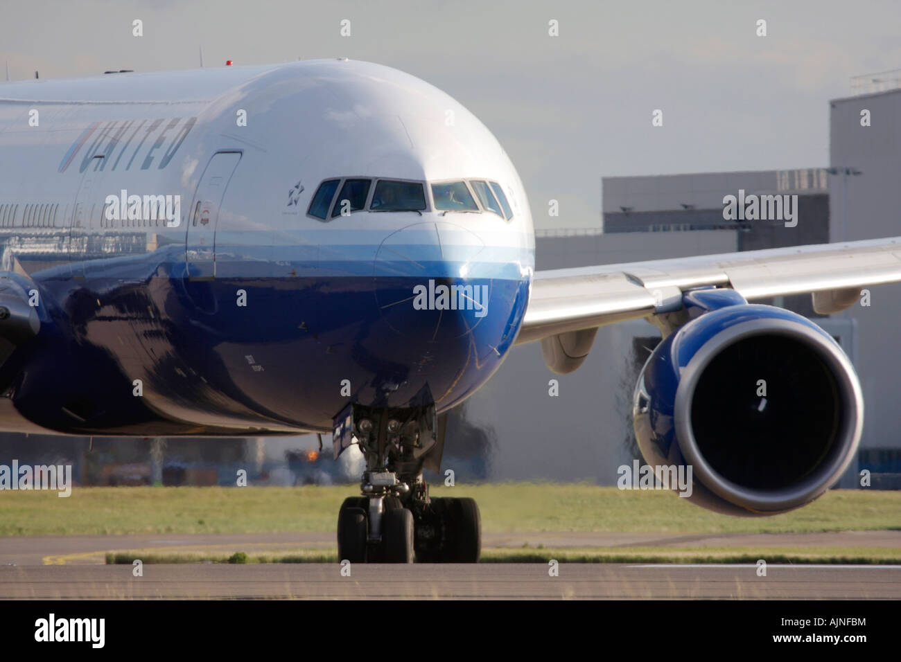
[{"label": "closed front cabin door between UNITED lettering and cockpit windows", "polygon": [[185,266],[190,280],[214,280],[216,276],[215,240],[219,209],[225,187],[240,160],[241,152],[216,152],[206,164],[203,177],[200,177],[187,214]]}]

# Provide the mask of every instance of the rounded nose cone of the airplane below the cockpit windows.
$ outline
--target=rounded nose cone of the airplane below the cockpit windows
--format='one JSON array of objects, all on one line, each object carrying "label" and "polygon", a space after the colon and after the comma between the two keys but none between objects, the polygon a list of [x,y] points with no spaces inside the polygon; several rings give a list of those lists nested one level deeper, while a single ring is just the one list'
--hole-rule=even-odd
[{"label": "rounded nose cone of the airplane below the cockpit windows", "polygon": [[475,232],[451,222],[388,235],[374,262],[382,320],[405,338],[432,343],[477,331],[492,315],[492,280],[474,277],[484,249]]}]

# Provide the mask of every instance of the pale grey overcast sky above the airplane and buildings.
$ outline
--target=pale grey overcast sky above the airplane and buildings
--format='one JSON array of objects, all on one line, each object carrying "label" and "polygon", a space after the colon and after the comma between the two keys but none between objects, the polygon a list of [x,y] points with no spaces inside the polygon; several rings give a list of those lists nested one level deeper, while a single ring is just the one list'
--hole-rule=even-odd
[{"label": "pale grey overcast sky above the airplane and buildings", "polygon": [[208,67],[348,57],[402,69],[494,131],[537,227],[598,225],[601,177],[828,165],[828,100],[851,95],[852,76],[901,68],[894,0],[0,0],[0,16],[14,79],[194,68],[200,46]]}]

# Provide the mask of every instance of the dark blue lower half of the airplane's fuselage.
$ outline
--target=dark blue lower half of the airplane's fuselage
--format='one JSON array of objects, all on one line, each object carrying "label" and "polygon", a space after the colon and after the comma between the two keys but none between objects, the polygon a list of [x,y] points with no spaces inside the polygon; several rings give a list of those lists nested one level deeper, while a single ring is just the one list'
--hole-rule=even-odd
[{"label": "dark blue lower half of the airplane's fuselage", "polygon": [[[32,274],[41,332],[0,368],[19,413],[141,435],[328,431],[349,402],[441,413],[505,358],[530,282],[518,261],[465,278],[406,259],[207,267],[176,245]],[[418,307],[417,286],[432,288]]]}]

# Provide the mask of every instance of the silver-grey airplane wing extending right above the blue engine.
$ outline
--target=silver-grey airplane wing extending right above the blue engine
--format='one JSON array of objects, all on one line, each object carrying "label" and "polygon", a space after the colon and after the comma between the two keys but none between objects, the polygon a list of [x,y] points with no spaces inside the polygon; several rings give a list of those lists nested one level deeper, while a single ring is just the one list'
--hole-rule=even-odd
[{"label": "silver-grey airplane wing extending right above the blue engine", "polygon": [[817,313],[837,313],[862,287],[899,281],[901,237],[538,271],[516,344],[542,340],[549,367],[570,372],[598,326],[677,312],[691,288],[730,287],[749,301],[811,293]]}]

